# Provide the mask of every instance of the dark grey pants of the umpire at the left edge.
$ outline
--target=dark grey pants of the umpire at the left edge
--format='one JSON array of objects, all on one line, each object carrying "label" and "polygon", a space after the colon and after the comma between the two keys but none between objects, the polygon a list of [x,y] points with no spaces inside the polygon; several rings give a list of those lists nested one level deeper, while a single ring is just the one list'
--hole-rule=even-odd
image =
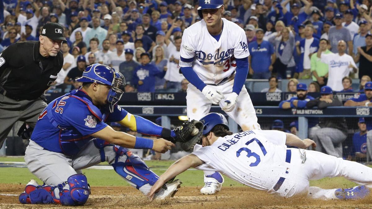
[{"label": "dark grey pants of the umpire at the left edge", "polygon": [[0,94],[0,148],[17,121],[35,127],[40,113],[47,107],[41,98],[29,101],[16,101]]}]

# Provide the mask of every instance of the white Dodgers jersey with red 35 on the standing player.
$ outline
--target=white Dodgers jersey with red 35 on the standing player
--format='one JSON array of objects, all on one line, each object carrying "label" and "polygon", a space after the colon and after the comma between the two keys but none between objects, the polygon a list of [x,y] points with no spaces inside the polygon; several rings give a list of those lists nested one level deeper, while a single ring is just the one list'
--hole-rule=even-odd
[{"label": "white Dodgers jersey with red 35 on the standing player", "polygon": [[222,22],[218,41],[209,34],[204,20],[183,32],[179,66],[192,66],[205,84],[219,84],[235,72],[235,58],[249,56],[244,30],[225,18]]}]

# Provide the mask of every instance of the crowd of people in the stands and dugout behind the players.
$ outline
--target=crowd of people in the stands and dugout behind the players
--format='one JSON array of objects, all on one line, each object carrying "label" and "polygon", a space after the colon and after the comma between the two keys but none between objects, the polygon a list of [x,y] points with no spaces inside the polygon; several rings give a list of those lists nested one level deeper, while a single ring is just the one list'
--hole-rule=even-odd
[{"label": "crowd of people in the stands and dugout behind the players", "polygon": [[[189,82],[179,73],[178,63],[183,30],[201,20],[198,1],[4,0],[3,3],[0,51],[12,43],[39,40],[45,23],[56,22],[64,27],[67,39],[61,47],[64,63],[49,91],[68,92],[77,88],[81,84],[75,79],[92,63],[119,70],[126,79],[126,92],[187,89]],[[260,89],[262,92],[281,92],[278,79],[289,79],[286,91],[295,92],[297,97],[282,101],[280,108],[342,106],[333,97],[334,92],[362,93],[345,106],[372,105],[369,102],[372,99],[371,0],[224,0],[224,8],[224,18],[246,32],[251,55],[248,78],[267,79],[269,88]],[[298,79],[312,79],[312,82],[306,85]],[[352,79],[360,79],[359,89],[352,89]],[[312,98],[307,92],[320,92],[321,97]],[[355,138],[365,140],[372,123],[361,118],[358,126],[360,132]],[[342,156],[341,143],[347,135],[344,119],[312,121],[309,127],[309,134],[317,133],[312,137],[319,144],[327,144],[319,146],[319,150]],[[272,128],[285,130],[280,120],[274,121]],[[297,122],[293,121],[288,128],[296,134]],[[337,137],[330,138],[327,133],[337,133]],[[365,142],[362,144],[365,146]],[[350,159],[365,157],[358,154],[358,148],[353,153]]]}]

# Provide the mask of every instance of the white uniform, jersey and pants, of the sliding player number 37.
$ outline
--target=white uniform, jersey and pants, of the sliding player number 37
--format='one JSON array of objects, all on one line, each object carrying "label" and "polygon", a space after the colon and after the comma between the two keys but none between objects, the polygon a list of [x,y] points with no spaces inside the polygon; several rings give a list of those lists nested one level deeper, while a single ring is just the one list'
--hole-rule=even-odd
[{"label": "white uniform, jersey and pants, of the sliding player number 37", "polygon": [[253,130],[218,138],[192,154],[204,161],[196,167],[218,171],[247,186],[283,197],[308,193],[312,198],[336,199],[336,189],[310,187],[309,180],[343,176],[372,187],[372,169],[312,150],[285,146],[282,131]]}]

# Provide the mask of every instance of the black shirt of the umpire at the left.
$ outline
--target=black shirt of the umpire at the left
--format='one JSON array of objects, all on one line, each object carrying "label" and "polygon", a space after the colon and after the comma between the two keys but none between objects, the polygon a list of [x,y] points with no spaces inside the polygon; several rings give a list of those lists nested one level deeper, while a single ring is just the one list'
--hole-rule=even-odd
[{"label": "black shirt of the umpire at the left", "polygon": [[15,43],[0,54],[0,94],[17,100],[34,100],[57,79],[63,54],[43,57],[39,41]]}]

